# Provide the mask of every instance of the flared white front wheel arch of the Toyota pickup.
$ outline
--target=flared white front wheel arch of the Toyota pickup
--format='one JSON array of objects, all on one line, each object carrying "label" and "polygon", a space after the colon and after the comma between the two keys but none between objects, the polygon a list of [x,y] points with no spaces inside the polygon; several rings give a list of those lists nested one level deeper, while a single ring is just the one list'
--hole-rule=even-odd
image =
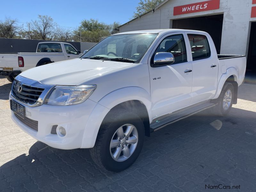
[{"label": "flared white front wheel arch of the Toyota pickup", "polygon": [[[92,148],[94,146],[104,118],[119,108],[128,108],[139,114],[144,124],[145,135],[150,135],[151,101],[146,90],[140,87],[125,87],[108,93],[97,103],[85,125],[81,148]],[[137,108],[137,110],[132,110],[134,108]]]}]

